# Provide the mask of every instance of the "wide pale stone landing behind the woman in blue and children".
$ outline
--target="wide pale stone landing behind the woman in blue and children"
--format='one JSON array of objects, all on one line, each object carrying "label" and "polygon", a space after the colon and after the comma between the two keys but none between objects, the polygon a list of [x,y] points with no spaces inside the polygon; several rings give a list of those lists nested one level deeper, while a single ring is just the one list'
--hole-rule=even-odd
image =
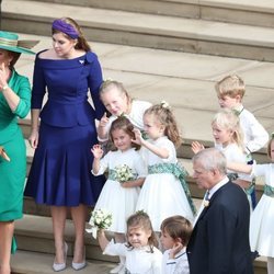
[{"label": "wide pale stone landing behind the woman in blue and children", "polygon": [[[46,36],[21,34],[20,37],[39,39],[35,52],[52,44]],[[133,98],[170,103],[184,139],[213,141],[210,121],[219,107],[214,84],[231,73],[240,75],[246,81],[244,106],[269,133],[273,132],[273,62],[104,43],[91,45],[100,57],[105,79],[122,81]],[[16,64],[18,71],[30,79],[33,59],[33,56],[22,55]],[[25,137],[28,137],[30,121],[20,123],[25,128]]]}]

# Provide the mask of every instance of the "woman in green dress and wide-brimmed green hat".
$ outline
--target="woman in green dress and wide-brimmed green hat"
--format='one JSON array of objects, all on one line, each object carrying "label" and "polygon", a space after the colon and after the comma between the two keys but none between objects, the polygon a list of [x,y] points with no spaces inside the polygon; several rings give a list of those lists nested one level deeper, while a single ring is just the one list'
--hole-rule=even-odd
[{"label": "woman in green dress and wide-brimmed green hat", "polygon": [[23,216],[26,148],[18,117],[30,112],[31,85],[14,70],[20,55],[34,54],[14,33],[0,31],[0,274],[10,273],[10,254],[15,251],[14,220]]}]

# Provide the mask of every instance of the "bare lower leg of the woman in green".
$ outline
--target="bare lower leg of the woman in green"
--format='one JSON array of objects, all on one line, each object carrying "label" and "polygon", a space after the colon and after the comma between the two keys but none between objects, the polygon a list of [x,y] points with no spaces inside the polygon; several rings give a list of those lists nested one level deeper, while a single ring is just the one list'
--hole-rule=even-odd
[{"label": "bare lower leg of the woman in green", "polygon": [[14,221],[0,221],[0,274],[10,274],[11,243]]}]

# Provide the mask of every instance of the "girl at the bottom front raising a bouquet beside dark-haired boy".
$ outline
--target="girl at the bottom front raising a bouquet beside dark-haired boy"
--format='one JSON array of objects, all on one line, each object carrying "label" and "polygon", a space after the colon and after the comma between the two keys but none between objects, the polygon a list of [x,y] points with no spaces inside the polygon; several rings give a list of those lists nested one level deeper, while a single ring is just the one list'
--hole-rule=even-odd
[{"label": "girl at the bottom front raising a bouquet beside dark-haired boy", "polygon": [[118,273],[162,274],[162,253],[155,247],[156,235],[146,213],[137,212],[127,219],[127,242],[109,241],[104,230],[98,239],[103,254],[126,258],[125,270]]}]

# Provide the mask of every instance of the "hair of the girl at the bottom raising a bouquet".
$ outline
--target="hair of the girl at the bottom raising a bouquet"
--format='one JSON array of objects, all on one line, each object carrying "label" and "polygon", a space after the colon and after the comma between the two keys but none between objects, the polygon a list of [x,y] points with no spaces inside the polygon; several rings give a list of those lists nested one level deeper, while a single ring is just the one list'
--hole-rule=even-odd
[{"label": "hair of the girl at the bottom raising a bouquet", "polygon": [[[136,228],[141,228],[146,232],[151,232],[150,237],[148,238],[148,246],[150,247],[151,253],[153,253],[153,247],[158,247],[158,241],[148,214],[145,213],[144,210],[136,212],[135,214],[128,217],[126,225],[127,225],[127,233],[129,232],[130,229],[136,229]],[[130,242],[128,242],[128,247],[132,247]]]}]

